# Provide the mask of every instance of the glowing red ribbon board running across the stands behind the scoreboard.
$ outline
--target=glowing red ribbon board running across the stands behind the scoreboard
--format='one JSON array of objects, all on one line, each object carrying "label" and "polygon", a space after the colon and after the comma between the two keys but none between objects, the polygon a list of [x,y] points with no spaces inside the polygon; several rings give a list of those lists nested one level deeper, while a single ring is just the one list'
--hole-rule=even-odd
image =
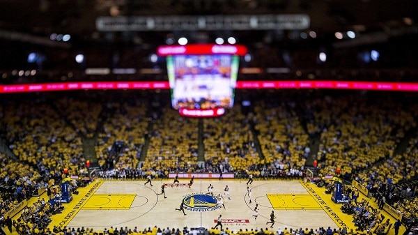
[{"label": "glowing red ribbon board running across the stands behind the scoreboard", "polygon": [[[76,90],[170,89],[168,81],[153,82],[57,82],[0,85],[0,93],[29,93]],[[418,82],[342,81],[237,81],[235,89],[348,89],[369,91],[418,91]]]}]

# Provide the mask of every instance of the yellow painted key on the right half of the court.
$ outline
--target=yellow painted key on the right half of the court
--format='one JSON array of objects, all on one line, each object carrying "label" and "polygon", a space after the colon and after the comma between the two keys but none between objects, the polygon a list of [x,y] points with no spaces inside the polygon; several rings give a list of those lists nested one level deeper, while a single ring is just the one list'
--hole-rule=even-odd
[{"label": "yellow painted key on the right half of the court", "polygon": [[320,210],[321,207],[309,194],[268,194],[275,210]]}]

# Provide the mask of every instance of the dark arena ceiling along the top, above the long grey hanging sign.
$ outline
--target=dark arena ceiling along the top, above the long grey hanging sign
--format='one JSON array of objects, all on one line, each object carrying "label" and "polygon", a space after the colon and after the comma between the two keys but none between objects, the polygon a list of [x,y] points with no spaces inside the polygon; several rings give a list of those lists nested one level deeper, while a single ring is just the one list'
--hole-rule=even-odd
[{"label": "dark arena ceiling along the top, above the long grey hanging sign", "polygon": [[302,13],[309,15],[310,29],[332,33],[413,24],[418,15],[414,0],[1,0],[0,6],[0,29],[82,38],[94,36],[100,16]]}]

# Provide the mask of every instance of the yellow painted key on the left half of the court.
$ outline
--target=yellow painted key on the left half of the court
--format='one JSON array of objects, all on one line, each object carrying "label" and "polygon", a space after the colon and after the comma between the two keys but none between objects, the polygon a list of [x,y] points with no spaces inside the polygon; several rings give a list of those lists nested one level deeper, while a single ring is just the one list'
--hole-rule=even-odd
[{"label": "yellow painted key on the left half of the court", "polygon": [[83,210],[129,210],[136,194],[95,194],[83,206]]}]

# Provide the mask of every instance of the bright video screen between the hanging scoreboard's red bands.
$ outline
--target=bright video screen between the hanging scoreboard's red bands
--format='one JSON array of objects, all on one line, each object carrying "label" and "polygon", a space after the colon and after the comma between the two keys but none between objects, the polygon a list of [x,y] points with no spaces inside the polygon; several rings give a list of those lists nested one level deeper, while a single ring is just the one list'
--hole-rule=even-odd
[{"label": "bright video screen between the hanging scoreboard's red bands", "polygon": [[174,109],[233,106],[238,56],[168,56],[167,70]]}]

